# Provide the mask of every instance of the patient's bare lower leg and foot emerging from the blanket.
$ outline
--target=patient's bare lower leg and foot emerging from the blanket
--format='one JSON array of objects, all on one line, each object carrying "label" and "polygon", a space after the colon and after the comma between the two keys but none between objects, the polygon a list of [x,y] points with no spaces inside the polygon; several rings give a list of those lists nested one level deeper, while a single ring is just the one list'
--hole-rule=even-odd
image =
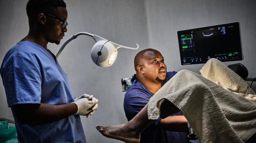
[{"label": "patient's bare lower leg and foot emerging from the blanket", "polygon": [[148,119],[148,105],[146,105],[133,119],[125,124],[113,126],[96,126],[105,137],[121,140],[126,143],[139,143],[141,132],[155,120]]}]

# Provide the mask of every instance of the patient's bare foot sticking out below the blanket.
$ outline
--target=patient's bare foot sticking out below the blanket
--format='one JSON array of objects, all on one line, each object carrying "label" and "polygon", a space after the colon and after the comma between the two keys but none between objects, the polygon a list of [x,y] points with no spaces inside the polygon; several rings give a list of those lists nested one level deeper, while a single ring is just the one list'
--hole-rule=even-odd
[{"label": "patient's bare foot sticking out below the blanket", "polygon": [[113,126],[96,126],[96,129],[105,137],[121,140],[125,143],[140,143],[141,134],[129,128],[126,124]]}]

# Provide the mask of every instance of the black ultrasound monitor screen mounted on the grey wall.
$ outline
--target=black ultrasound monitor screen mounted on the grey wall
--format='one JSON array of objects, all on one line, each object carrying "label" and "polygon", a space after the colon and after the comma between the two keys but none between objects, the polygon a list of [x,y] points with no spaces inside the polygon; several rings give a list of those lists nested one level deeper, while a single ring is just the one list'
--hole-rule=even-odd
[{"label": "black ultrasound monitor screen mounted on the grey wall", "polygon": [[239,23],[178,31],[182,65],[243,60]]}]

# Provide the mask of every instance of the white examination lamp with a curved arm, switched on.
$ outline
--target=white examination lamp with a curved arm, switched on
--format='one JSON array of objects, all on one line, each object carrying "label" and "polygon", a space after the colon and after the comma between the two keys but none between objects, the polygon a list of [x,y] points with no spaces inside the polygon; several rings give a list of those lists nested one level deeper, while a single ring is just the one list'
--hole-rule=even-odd
[{"label": "white examination lamp with a curved arm, switched on", "polygon": [[56,54],[56,58],[58,58],[62,52],[62,50],[64,49],[64,47],[73,39],[75,39],[76,37],[78,37],[79,35],[87,35],[90,37],[93,37],[95,40],[95,44],[91,50],[91,57],[93,62],[100,66],[100,67],[108,67],[111,66],[116,59],[117,56],[117,49],[119,48],[127,48],[127,49],[133,49],[133,50],[137,50],[139,48],[139,45],[137,45],[136,48],[131,48],[131,47],[126,47],[126,46],[122,46],[119,44],[116,44],[114,42],[111,42],[105,38],[102,38],[100,36],[97,35],[93,35],[87,32],[79,32],[74,34],[72,37],[69,37],[64,44],[61,46],[61,49],[58,51],[58,53]]}]

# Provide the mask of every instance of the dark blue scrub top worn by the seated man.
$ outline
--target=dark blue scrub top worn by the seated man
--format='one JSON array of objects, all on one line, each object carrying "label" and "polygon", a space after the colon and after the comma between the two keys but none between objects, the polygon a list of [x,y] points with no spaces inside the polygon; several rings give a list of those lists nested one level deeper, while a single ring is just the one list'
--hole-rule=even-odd
[{"label": "dark blue scrub top worn by the seated man", "polygon": [[[171,79],[176,73],[175,71],[167,72],[166,80]],[[128,121],[134,118],[148,104],[149,99],[153,95],[140,81],[137,79],[134,81],[124,97],[124,111]],[[182,112],[178,112],[172,116],[174,115],[182,115]],[[157,127],[160,120],[161,118],[158,118],[141,133],[140,143],[187,143],[186,132],[162,130]]]}]

